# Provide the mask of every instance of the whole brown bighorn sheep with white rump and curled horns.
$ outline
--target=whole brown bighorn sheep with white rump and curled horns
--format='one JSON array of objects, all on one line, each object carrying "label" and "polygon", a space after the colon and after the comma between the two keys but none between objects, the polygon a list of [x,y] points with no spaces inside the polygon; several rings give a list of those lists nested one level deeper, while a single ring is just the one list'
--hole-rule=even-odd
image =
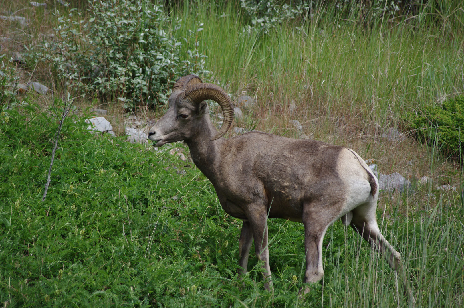
[{"label": "whole brown bighorn sheep with white rump and curled horns", "polygon": [[[210,120],[206,99],[222,108],[224,122],[219,131]],[[150,129],[148,138],[155,147],[185,141],[193,162],[216,189],[224,211],[243,219],[239,265],[244,273],[254,238],[256,255],[264,261],[264,279],[271,277],[268,217],[303,223],[304,282],[322,278],[322,238],[339,218],[380,250],[391,268],[400,270],[400,254],[377,226],[378,181],[358,154],[322,141],[258,131],[221,138],[232,119],[232,101],[223,89],[187,75],[175,83],[169,109]],[[268,282],[265,285],[269,288]]]}]

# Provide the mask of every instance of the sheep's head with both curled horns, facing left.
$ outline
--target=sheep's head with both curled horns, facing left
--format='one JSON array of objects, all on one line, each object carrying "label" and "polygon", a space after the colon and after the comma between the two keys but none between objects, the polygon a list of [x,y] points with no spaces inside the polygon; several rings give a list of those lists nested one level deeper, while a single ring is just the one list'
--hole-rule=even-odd
[{"label": "sheep's head with both curled horns, facing left", "polygon": [[224,114],[222,127],[211,140],[225,135],[232,124],[232,100],[219,86],[202,83],[200,77],[192,74],[180,78],[174,84],[169,96],[169,109],[150,129],[148,139],[155,141],[155,147],[190,139],[197,131],[203,116],[209,115],[206,99],[216,101]]}]

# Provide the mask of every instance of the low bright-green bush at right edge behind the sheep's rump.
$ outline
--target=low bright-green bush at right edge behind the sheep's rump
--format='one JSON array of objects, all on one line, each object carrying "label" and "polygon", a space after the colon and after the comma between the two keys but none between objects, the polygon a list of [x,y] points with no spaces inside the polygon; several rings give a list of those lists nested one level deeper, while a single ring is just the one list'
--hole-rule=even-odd
[{"label": "low bright-green bush at right edge behind the sheep's rump", "polygon": [[436,144],[445,155],[464,157],[464,96],[427,106],[408,122],[420,140]]}]

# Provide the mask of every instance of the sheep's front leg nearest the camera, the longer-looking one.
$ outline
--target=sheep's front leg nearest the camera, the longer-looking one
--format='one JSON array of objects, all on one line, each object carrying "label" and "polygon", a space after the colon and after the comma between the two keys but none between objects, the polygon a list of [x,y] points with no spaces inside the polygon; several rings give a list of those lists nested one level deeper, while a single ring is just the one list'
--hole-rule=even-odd
[{"label": "sheep's front leg nearest the camera, the longer-looking one", "polygon": [[263,207],[251,208],[247,213],[247,218],[250,222],[255,240],[255,252],[258,260],[263,261],[264,287],[269,290],[271,282],[271,268],[269,267],[269,249],[268,249],[268,234],[267,234],[267,215]]}]

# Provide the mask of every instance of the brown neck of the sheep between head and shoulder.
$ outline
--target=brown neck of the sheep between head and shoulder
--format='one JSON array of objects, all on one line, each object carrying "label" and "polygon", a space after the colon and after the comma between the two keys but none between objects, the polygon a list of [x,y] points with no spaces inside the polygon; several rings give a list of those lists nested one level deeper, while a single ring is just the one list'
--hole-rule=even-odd
[{"label": "brown neck of the sheep between head and shoulder", "polygon": [[219,161],[218,147],[222,143],[222,138],[211,141],[217,133],[217,129],[211,122],[209,115],[202,118],[200,125],[197,126],[195,134],[189,140],[185,140],[190,149],[190,155],[195,165],[211,181],[215,182],[215,166]]}]

